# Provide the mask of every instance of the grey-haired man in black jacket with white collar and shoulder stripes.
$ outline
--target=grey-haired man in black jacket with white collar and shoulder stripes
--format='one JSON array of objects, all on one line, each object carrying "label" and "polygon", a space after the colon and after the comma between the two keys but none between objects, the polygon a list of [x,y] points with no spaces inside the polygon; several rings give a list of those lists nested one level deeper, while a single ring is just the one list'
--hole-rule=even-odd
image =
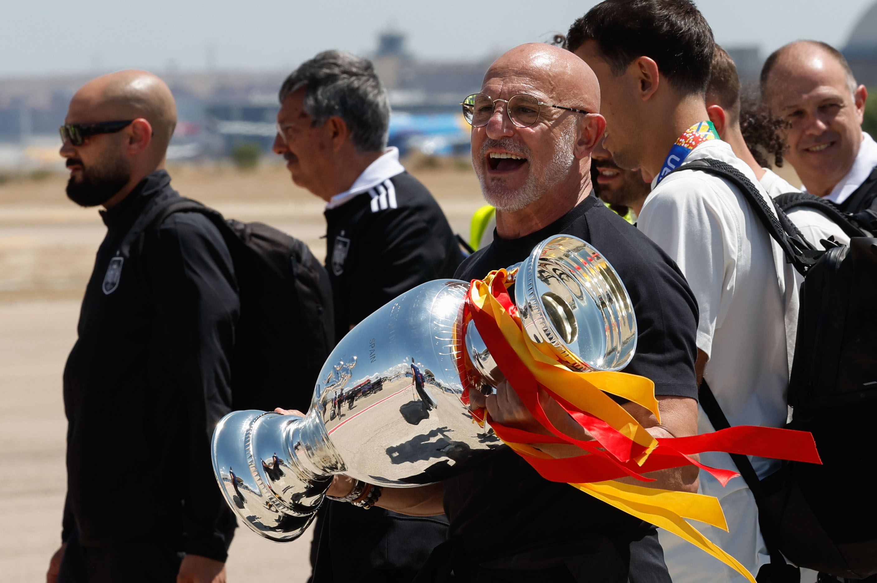
[{"label": "grey-haired man in black jacket with white collar and shoulder stripes", "polygon": [[[397,295],[453,277],[463,257],[439,204],[387,147],[389,100],[368,60],[319,53],[289,75],[279,97],[274,151],[296,185],[326,202],[338,341]],[[441,508],[413,517],[348,501],[321,508],[314,583],[407,582],[445,540]]]}]

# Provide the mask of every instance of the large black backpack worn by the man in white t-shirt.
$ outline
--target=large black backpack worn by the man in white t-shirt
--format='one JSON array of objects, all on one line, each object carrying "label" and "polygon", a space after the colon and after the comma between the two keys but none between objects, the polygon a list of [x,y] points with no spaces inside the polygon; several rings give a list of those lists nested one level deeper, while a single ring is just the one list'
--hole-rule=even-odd
[{"label": "large black backpack worn by the man in white t-shirt", "polygon": [[[785,213],[777,209],[774,216],[758,189],[731,165],[694,160],[678,169],[702,170],[737,186],[787,260],[806,276],[788,385],[794,407],[788,428],[813,434],[823,465],[784,462],[781,471],[759,480],[746,456],[731,454],[758,504],[771,556],[759,581],[800,579],[783,555],[795,565],[838,577],[873,575],[877,453],[870,438],[877,418],[877,238],[853,236],[850,246],[827,242],[831,248],[813,249]],[[715,429],[728,427],[706,382],[699,396]]]}]

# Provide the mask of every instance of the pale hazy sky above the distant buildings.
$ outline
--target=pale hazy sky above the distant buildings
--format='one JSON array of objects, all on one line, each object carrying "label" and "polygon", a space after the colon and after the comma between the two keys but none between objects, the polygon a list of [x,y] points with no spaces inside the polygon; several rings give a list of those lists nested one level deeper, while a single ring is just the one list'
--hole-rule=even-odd
[{"label": "pale hazy sky above the distant buildings", "polygon": [[[700,0],[724,46],[843,46],[875,0]],[[566,32],[593,0],[0,0],[0,77],[118,68],[275,70],[318,51],[367,54],[388,27],[415,56],[474,59]]]}]

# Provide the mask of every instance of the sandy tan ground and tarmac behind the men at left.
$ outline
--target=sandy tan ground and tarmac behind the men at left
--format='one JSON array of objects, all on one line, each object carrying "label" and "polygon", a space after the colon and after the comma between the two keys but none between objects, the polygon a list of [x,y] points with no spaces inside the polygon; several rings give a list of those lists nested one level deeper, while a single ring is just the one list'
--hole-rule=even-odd
[{"label": "sandy tan ground and tarmac behind the men at left", "polygon": [[[226,217],[287,231],[324,257],[323,203],[289,180],[283,167],[172,168],[174,186]],[[413,174],[431,189],[455,231],[468,234],[481,206],[474,174],[455,167]],[[60,542],[66,489],[67,421],[61,373],[75,342],[79,302],[105,227],[95,209],[64,194],[65,179],[0,184],[0,579],[43,579]],[[122,523],[132,508],[106,508]],[[238,530],[228,563],[231,583],[303,582],[310,535],[276,544]]]}]

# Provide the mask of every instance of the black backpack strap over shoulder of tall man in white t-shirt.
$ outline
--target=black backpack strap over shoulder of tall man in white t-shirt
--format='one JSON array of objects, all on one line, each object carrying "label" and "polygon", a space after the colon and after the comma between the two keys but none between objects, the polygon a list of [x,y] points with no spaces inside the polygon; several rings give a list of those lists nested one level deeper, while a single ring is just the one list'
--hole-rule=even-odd
[{"label": "black backpack strap over shoulder of tall man in white t-shirt", "polygon": [[[786,260],[795,266],[795,269],[800,274],[807,274],[809,268],[816,264],[816,260],[824,253],[814,249],[802,237],[800,231],[794,228],[792,222],[786,217],[786,213],[776,208],[775,205],[774,210],[776,212],[774,214],[770,207],[767,206],[759,189],[737,168],[721,160],[701,158],[686,162],[674,169],[673,172],[679,172],[680,170],[701,170],[702,172],[724,178],[736,186],[743,194],[746,202],[752,207],[755,216],[759,218],[761,224],[765,225],[767,232],[780,245],[782,251],[786,253]],[[673,174],[673,172],[670,174]]]}]

